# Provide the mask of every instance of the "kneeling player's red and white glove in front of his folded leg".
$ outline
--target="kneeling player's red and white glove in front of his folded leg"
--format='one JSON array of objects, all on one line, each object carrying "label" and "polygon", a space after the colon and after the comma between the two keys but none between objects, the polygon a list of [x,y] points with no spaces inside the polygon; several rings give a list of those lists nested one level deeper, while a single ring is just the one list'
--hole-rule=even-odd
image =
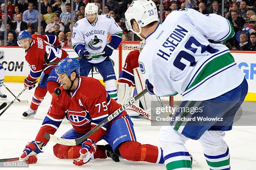
[{"label": "kneeling player's red and white glove in front of his folded leg", "polygon": [[93,140],[87,139],[80,149],[80,157],[74,159],[73,164],[77,166],[88,163],[93,157],[93,153],[96,151],[96,143]]}]

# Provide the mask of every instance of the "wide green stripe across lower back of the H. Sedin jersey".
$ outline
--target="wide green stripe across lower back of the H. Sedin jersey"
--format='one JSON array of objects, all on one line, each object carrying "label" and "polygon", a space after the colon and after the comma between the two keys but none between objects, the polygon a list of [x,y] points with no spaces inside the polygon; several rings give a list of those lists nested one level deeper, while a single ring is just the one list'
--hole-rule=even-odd
[{"label": "wide green stripe across lower back of the H. Sedin jersey", "polygon": [[195,80],[189,85],[186,91],[200,83],[202,80],[204,80],[212,73],[217,72],[218,70],[222,69],[223,67],[226,67],[227,65],[230,65],[233,62],[235,62],[235,60],[233,56],[230,54],[230,52],[227,52],[223,55],[220,55],[212,59],[202,68],[202,70],[199,72]]}]

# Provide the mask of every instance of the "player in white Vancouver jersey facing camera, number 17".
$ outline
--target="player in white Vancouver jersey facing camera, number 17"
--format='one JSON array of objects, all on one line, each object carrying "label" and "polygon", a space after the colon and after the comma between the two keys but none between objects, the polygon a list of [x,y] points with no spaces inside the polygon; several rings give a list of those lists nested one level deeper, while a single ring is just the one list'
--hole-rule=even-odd
[{"label": "player in white Vancouver jersey facing camera, number 17", "polygon": [[[111,98],[117,100],[116,77],[110,56],[122,40],[123,30],[109,15],[98,15],[96,3],[88,3],[85,7],[86,18],[77,21],[73,28],[72,44],[79,56],[105,52],[92,58],[79,60],[81,76],[87,76],[92,66],[97,67],[105,87]],[[111,41],[107,43],[108,34]]]}]

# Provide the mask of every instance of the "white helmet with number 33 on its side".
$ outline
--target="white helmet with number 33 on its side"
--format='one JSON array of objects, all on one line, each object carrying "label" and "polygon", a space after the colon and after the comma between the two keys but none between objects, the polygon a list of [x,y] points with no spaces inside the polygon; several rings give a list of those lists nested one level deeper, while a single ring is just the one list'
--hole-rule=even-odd
[{"label": "white helmet with number 33 on its side", "polygon": [[[139,32],[133,29],[132,21],[135,20],[139,27]],[[152,0],[134,0],[125,12],[125,25],[127,30],[131,30],[142,40],[141,27],[159,21],[156,4]]]}]

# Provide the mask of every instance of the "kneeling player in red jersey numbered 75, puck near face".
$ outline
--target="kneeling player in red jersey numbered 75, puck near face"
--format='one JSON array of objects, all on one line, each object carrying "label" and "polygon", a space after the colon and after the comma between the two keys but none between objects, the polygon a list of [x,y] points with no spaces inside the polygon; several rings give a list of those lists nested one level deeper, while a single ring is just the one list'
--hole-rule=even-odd
[{"label": "kneeling player in red jersey numbered 75, puck near face", "polygon": [[[22,160],[36,163],[35,155],[43,152],[42,147],[49,140],[45,133],[54,134],[61,121],[67,117],[73,128],[64,133],[61,138],[76,139],[105,120],[121,107],[115,100],[110,99],[105,87],[92,77],[79,77],[80,65],[76,59],[64,58],[56,66],[62,86],[61,94],[52,98],[51,107],[44,118],[36,139],[26,145],[21,155]],[[163,163],[162,150],[153,145],[142,145],[136,141],[133,123],[125,111],[115,119],[102,126],[80,145],[66,146],[56,144],[53,152],[60,159],[74,159],[75,165],[83,165],[91,159],[107,158],[105,148],[96,145],[104,139],[116,154],[127,160]]]}]

